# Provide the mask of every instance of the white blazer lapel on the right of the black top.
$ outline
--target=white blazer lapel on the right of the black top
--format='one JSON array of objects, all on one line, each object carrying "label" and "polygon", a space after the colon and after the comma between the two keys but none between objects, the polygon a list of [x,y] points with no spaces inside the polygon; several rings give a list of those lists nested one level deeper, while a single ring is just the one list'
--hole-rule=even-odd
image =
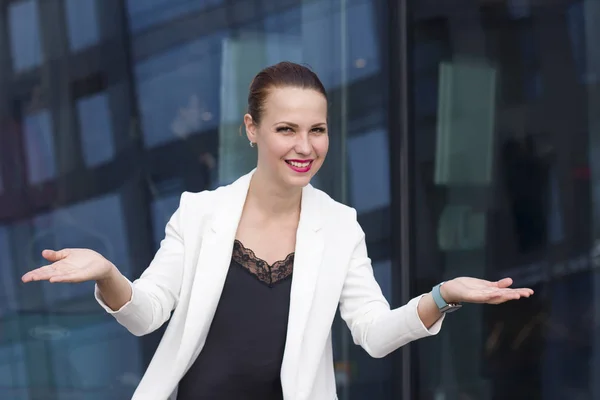
[{"label": "white blazer lapel on the right of the black top", "polygon": [[281,383],[286,399],[295,398],[304,330],[313,306],[321,267],[324,242],[318,200],[318,194],[312,186],[308,185],[303,189],[300,223],[296,233],[288,329],[281,366]]}]

